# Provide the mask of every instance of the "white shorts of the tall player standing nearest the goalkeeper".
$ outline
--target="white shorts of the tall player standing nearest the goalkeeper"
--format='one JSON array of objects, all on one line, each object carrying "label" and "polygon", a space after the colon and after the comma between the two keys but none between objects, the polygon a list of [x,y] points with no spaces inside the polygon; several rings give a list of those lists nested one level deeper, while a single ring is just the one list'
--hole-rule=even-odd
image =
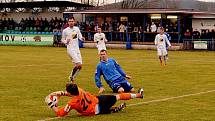
[{"label": "white shorts of the tall player standing nearest the goalkeeper", "polygon": [[73,63],[81,63],[82,64],[82,57],[80,51],[75,51],[71,49],[67,49],[67,53],[69,57],[72,59]]}]

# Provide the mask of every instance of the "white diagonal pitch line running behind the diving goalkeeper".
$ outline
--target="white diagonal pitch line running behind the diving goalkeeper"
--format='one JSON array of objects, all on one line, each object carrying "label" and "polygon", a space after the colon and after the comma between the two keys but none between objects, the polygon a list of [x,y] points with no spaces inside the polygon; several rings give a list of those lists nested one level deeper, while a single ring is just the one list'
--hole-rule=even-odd
[{"label": "white diagonal pitch line running behind the diving goalkeeper", "polygon": [[[129,106],[136,106],[136,105],[142,105],[142,104],[156,103],[156,102],[164,102],[164,101],[169,101],[169,100],[174,100],[174,99],[180,99],[180,98],[185,98],[185,97],[190,97],[190,96],[208,94],[208,93],[212,93],[212,92],[215,92],[215,90],[209,90],[209,91],[205,91],[205,92],[186,94],[186,95],[181,95],[181,96],[175,96],[175,97],[169,97],[169,98],[151,100],[151,101],[146,101],[146,102],[128,104],[127,107],[129,107]],[[69,117],[69,116],[66,116],[66,117]],[[53,118],[46,118],[46,119],[37,120],[37,121],[50,121],[50,120],[55,120],[55,119],[59,119],[59,118],[65,118],[65,117],[53,117]]]}]

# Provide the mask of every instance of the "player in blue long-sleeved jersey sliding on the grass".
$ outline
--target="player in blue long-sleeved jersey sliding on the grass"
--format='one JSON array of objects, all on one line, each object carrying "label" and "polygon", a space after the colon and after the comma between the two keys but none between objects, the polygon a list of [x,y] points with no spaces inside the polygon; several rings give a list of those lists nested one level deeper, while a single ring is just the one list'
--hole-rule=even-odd
[{"label": "player in blue long-sleeved jersey sliding on the grass", "polygon": [[108,58],[106,50],[100,51],[100,60],[95,73],[95,82],[99,93],[105,91],[101,83],[101,75],[113,92],[134,92],[132,85],[125,79],[130,79],[131,76],[127,75],[113,58]]}]

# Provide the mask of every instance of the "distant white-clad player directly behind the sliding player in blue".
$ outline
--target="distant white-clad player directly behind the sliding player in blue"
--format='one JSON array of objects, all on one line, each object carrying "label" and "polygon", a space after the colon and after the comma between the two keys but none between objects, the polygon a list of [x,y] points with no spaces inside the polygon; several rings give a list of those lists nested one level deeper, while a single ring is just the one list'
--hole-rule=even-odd
[{"label": "distant white-clad player directly behind the sliding player in blue", "polygon": [[94,42],[96,42],[98,53],[100,53],[101,50],[107,50],[105,45],[105,42],[107,42],[107,39],[105,37],[105,34],[102,33],[101,27],[98,27],[97,33],[94,34]]}]

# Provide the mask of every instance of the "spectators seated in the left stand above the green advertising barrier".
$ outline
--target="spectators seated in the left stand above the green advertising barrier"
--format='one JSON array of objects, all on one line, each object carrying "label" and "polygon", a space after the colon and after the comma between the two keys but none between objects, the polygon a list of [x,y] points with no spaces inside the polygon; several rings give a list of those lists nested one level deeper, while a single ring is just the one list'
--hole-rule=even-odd
[{"label": "spectators seated in the left stand above the green advertising barrier", "polygon": [[34,32],[53,32],[54,29],[61,29],[66,23],[62,18],[21,18],[20,22],[13,18],[0,19],[0,32],[4,31],[34,31]]}]

